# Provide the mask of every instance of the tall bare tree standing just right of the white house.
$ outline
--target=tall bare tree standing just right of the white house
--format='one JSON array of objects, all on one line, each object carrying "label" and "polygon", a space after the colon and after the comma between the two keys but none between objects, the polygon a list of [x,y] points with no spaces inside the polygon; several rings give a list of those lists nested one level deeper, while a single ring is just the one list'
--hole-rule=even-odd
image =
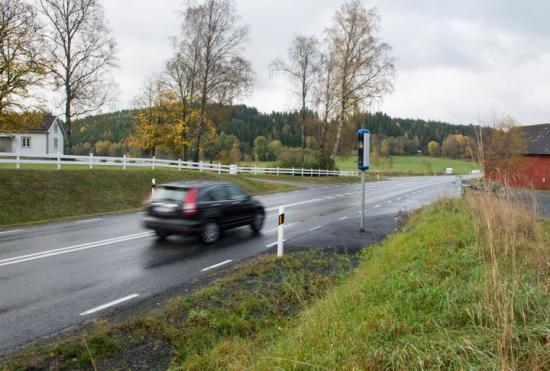
[{"label": "tall bare tree standing just right of the white house", "polygon": [[63,91],[65,144],[71,148],[73,117],[97,111],[110,98],[116,45],[98,0],[38,0],[48,23],[47,64]]}]

